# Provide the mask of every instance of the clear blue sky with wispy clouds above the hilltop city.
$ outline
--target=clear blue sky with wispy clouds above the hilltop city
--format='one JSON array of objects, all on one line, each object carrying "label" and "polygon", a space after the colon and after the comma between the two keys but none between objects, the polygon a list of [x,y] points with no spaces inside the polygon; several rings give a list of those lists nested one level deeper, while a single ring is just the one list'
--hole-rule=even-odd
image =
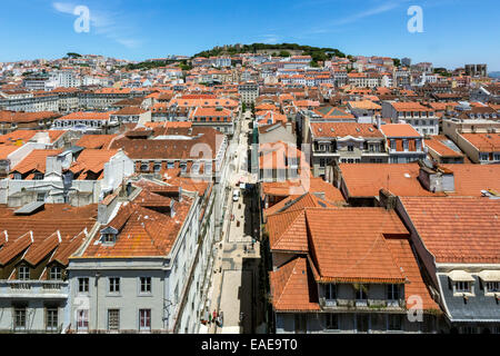
[{"label": "clear blue sky with wispy clouds above the hilltop city", "polygon": [[[77,6],[90,10],[88,33],[73,29]],[[408,31],[410,6],[422,8],[423,32]],[[1,0],[0,9],[0,61],[70,51],[142,60],[293,42],[500,70],[498,0]]]}]

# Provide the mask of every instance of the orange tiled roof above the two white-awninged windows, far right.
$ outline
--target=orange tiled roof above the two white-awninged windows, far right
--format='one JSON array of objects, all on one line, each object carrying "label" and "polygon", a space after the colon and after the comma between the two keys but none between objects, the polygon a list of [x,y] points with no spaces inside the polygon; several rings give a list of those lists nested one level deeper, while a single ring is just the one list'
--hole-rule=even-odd
[{"label": "orange tiled roof above the two white-awninged windows, far right", "polygon": [[401,197],[436,263],[499,264],[500,200]]}]

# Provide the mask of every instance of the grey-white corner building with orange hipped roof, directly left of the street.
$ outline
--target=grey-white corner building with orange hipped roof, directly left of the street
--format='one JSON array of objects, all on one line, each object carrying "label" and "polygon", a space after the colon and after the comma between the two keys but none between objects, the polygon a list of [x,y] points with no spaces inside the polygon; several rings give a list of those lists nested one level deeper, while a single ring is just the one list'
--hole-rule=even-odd
[{"label": "grey-white corner building with orange hipped roof, directly left of the street", "polygon": [[99,207],[100,227],[68,268],[72,332],[197,332],[194,303],[206,293],[201,270],[192,276],[200,200],[197,191],[141,179]]}]

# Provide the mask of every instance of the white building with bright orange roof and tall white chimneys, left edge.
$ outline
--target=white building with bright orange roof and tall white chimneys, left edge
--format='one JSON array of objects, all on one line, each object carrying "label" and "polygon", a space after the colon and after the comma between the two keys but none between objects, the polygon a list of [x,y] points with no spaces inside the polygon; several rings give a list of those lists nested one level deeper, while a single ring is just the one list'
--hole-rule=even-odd
[{"label": "white building with bright orange roof and tall white chimneys, left edge", "polygon": [[9,178],[0,181],[0,204],[9,207],[96,204],[134,171],[133,161],[119,150],[24,146],[10,156]]}]

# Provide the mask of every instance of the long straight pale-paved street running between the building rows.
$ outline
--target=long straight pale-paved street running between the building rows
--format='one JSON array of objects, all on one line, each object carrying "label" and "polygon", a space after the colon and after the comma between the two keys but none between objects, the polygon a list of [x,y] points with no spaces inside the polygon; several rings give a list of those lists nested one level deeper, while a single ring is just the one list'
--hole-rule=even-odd
[{"label": "long straight pale-paved street running between the building rows", "polygon": [[[251,113],[241,116],[236,130],[238,146],[234,149],[234,170],[229,177],[231,191],[226,204],[222,231],[223,239],[218,245],[212,280],[210,313],[223,314],[222,327],[211,324],[211,334],[249,334],[258,332],[263,313],[258,303],[260,244],[256,237],[259,233],[258,200],[254,190],[241,189],[240,182],[257,182],[257,177],[249,172],[248,150],[251,128]],[[233,200],[233,191],[240,191]]]}]

